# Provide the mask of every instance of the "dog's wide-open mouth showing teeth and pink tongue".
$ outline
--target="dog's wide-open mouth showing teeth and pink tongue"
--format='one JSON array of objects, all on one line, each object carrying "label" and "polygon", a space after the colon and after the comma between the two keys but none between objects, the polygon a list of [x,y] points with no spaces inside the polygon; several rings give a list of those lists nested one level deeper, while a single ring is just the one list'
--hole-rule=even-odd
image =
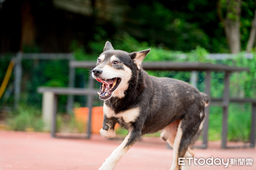
[{"label": "dog's wide-open mouth showing teeth and pink tongue", "polygon": [[121,78],[119,77],[104,80],[97,78],[96,80],[98,82],[101,82],[100,92],[98,92],[100,99],[108,99],[109,97],[111,97],[112,92],[116,90],[121,82]]}]

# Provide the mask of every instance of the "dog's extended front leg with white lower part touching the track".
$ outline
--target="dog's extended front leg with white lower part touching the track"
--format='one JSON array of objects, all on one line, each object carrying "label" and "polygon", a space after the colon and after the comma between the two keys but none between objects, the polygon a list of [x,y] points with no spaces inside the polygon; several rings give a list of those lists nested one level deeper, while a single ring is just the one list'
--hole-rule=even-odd
[{"label": "dog's extended front leg with white lower part touching the track", "polygon": [[111,153],[105,160],[99,170],[113,170],[117,162],[131,148],[131,146],[140,139],[141,131],[131,130],[125,137],[125,140]]}]

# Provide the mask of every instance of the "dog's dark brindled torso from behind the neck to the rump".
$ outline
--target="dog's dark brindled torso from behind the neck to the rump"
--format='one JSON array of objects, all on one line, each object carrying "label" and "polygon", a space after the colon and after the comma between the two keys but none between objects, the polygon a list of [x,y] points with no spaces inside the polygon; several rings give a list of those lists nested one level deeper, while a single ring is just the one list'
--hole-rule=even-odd
[{"label": "dog's dark brindled torso from behind the neck to the rump", "polygon": [[197,88],[177,79],[149,76],[143,72],[146,88],[139,99],[142,117],[146,117],[143,134],[157,132],[186,114],[200,119],[205,100]]}]

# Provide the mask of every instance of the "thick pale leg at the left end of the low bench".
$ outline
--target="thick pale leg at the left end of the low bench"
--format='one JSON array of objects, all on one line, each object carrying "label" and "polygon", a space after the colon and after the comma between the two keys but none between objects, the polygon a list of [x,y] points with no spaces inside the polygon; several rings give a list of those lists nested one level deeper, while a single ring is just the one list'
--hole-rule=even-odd
[{"label": "thick pale leg at the left end of the low bench", "polygon": [[42,118],[44,121],[44,130],[49,131],[51,129],[52,115],[53,115],[53,101],[54,94],[49,91],[43,93],[42,101]]}]

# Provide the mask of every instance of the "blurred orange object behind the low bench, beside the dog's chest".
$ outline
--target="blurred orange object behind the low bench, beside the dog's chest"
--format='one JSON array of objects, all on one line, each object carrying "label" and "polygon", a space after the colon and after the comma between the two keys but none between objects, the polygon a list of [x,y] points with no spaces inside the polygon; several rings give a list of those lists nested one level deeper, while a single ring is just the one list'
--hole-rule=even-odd
[{"label": "blurred orange object behind the low bench, beside the dog's chest", "polygon": [[[74,108],[75,119],[77,122],[87,124],[88,121],[88,111],[87,107],[85,108]],[[96,106],[92,109],[92,133],[99,133],[99,130],[102,128],[103,123],[103,107]],[[119,125],[116,124],[116,128]]]}]

